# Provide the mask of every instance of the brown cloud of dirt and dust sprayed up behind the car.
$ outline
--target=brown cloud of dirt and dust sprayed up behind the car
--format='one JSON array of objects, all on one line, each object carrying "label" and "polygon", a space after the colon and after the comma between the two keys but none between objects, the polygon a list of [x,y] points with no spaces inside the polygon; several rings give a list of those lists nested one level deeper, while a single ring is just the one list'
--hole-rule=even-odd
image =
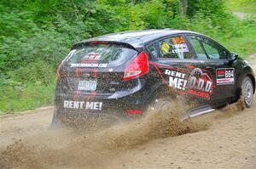
[{"label": "brown cloud of dirt and dust sprayed up behind the car", "polygon": [[0,168],[102,168],[125,150],[137,149],[150,140],[209,127],[204,122],[181,121],[184,107],[175,101],[159,110],[148,110],[147,115],[136,121],[94,132],[58,130],[18,138],[1,149]]}]

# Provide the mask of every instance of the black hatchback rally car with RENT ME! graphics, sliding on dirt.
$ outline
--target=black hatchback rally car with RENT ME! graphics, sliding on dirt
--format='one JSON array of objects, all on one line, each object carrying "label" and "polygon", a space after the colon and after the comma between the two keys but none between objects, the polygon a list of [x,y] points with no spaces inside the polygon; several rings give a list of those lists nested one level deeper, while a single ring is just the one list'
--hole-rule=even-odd
[{"label": "black hatchback rally car with RENT ME! graphics, sliding on dirt", "polygon": [[57,73],[53,124],[143,115],[172,93],[196,100],[202,112],[234,103],[240,95],[250,108],[255,91],[247,61],[209,37],[172,29],[76,43]]}]

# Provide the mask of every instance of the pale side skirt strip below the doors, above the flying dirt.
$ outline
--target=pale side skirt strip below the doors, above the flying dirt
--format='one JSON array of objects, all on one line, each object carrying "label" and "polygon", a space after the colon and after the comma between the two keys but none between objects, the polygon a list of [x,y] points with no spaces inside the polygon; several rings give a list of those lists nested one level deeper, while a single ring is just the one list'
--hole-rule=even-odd
[{"label": "pale side skirt strip below the doors, above the flying dirt", "polygon": [[195,116],[198,116],[198,115],[204,115],[204,114],[210,113],[212,111],[215,111],[215,109],[212,109],[212,107],[209,105],[203,105],[203,106],[200,106],[198,108],[195,108],[195,109],[192,109],[192,110],[189,110],[188,112],[186,112],[182,121],[192,118],[192,117],[195,117]]}]

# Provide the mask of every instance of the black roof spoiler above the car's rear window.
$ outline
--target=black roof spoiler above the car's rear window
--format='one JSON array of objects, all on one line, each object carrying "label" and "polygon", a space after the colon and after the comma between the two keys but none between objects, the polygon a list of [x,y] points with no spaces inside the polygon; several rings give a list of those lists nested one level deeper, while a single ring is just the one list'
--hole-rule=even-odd
[{"label": "black roof spoiler above the car's rear window", "polygon": [[134,48],[134,47],[133,47],[131,44],[129,44],[129,43],[126,43],[126,42],[117,42],[117,41],[84,41],[84,42],[78,42],[78,43],[74,44],[71,49],[73,50],[73,49],[76,49],[76,48],[81,48],[81,47],[83,47],[83,46],[86,46],[86,45],[93,45],[93,44],[117,44],[117,45],[125,46],[125,47],[127,47],[127,48],[132,48],[132,49],[138,51],[137,48]]}]

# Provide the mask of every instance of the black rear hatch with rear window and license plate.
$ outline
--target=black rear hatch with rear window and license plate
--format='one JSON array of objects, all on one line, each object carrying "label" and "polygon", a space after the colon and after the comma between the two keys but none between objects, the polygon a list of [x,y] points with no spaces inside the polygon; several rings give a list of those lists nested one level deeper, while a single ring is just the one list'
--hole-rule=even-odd
[{"label": "black rear hatch with rear window and license plate", "polygon": [[135,87],[124,81],[125,66],[138,54],[117,42],[86,42],[73,48],[59,68],[61,93],[95,94],[106,97]]}]

